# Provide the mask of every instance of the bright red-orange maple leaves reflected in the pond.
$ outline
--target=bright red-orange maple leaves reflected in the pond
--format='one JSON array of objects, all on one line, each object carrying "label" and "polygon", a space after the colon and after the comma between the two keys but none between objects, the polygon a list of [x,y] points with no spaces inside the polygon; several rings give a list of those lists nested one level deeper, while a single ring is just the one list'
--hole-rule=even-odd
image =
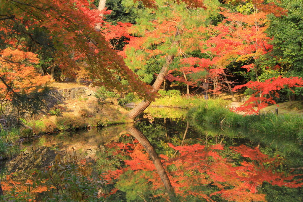
[{"label": "bright red-orange maple leaves reflected in the pond", "polygon": [[[226,200],[233,201],[264,201],[265,194],[258,193],[257,187],[264,181],[272,185],[301,187],[303,182],[294,180],[297,175],[282,172],[276,172],[275,167],[280,164],[277,158],[269,158],[262,154],[258,148],[250,148],[244,145],[239,147],[230,147],[231,150],[240,153],[248,161],[242,161],[241,165],[235,166],[228,159],[221,157],[220,150],[228,149],[222,145],[211,145],[206,148],[205,145],[194,144],[189,146],[169,147],[178,150],[178,157],[169,159],[161,154],[164,167],[174,165],[176,169],[168,173],[168,177],[175,192],[183,197],[193,195],[198,198],[213,201],[211,196],[219,194]],[[121,145],[122,146],[122,145]],[[127,170],[133,170],[135,173],[143,171],[155,171],[152,161],[148,154],[143,151],[141,145],[129,145],[134,151],[129,150],[130,160],[126,160],[126,168],[118,169],[116,174],[121,174]],[[120,147],[122,150],[122,147]],[[156,172],[152,173],[149,181],[153,184],[153,189],[159,189],[163,185]],[[119,179],[118,176],[115,179]],[[216,186],[220,190],[209,195],[205,194],[201,187]],[[200,187],[200,189],[198,188]],[[229,187],[227,189],[227,187]],[[231,188],[232,187],[232,188]]]}]

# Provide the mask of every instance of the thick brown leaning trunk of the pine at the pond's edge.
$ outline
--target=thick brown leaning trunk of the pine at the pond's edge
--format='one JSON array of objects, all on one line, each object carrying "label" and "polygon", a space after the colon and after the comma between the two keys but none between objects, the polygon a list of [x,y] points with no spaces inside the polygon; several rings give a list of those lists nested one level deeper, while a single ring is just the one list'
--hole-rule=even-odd
[{"label": "thick brown leaning trunk of the pine at the pond's edge", "polygon": [[[171,48],[174,48],[176,45],[179,44],[180,40],[178,39],[179,36],[179,31],[177,31],[175,35],[175,40],[171,44]],[[155,83],[152,85],[152,90],[151,92],[158,92],[158,90],[161,87],[161,84],[163,83],[167,73],[168,73],[168,67],[171,64],[171,62],[174,60],[175,54],[169,54],[166,57],[166,61],[164,65],[162,66],[160,73],[158,74]],[[151,104],[151,101],[142,101],[140,104],[138,104],[135,108],[133,108],[131,111],[127,113],[128,118],[135,118],[139,114],[141,114],[147,107],[148,105]]]}]

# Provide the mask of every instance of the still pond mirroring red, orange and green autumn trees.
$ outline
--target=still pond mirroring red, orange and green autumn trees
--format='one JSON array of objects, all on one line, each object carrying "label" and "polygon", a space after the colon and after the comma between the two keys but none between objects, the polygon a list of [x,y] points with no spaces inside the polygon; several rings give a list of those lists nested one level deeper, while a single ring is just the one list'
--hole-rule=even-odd
[{"label": "still pond mirroring red, orange and green autumn trees", "polygon": [[[92,185],[95,201],[303,200],[300,154],[283,153],[247,137],[199,131],[181,115],[159,114],[138,119],[134,125],[41,136],[2,165],[6,176],[2,188],[28,191],[39,178],[29,195],[46,200],[47,190],[59,193],[63,185],[50,185],[48,178],[37,175],[38,170],[52,171],[48,177],[54,180],[58,164],[65,168],[77,164],[88,181],[100,182]],[[79,196],[85,199],[83,193]],[[79,196],[69,195],[74,201],[81,201]]]}]

